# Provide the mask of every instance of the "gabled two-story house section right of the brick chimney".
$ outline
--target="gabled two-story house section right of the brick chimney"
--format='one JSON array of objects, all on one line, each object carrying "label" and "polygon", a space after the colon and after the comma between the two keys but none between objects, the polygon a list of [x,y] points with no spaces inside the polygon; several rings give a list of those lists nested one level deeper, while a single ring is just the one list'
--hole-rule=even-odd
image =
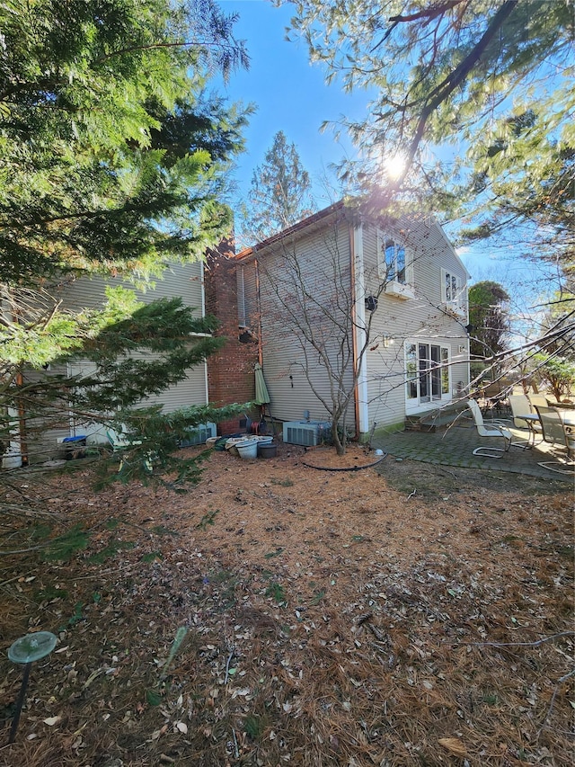
[{"label": "gabled two-story house section right of the brick chimney", "polygon": [[469,275],[434,220],[339,202],[237,259],[240,323],[259,335],[275,417],[340,408],[365,436],[468,387]]}]

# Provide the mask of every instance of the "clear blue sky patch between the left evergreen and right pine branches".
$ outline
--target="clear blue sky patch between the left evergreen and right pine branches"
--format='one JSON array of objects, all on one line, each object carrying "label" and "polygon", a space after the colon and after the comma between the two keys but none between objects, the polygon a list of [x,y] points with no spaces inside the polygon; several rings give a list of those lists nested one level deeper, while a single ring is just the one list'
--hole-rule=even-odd
[{"label": "clear blue sky patch between the left evergreen and right pine branches", "polygon": [[218,4],[225,13],[240,14],[236,37],[245,40],[252,59],[247,72],[236,72],[227,85],[218,85],[230,100],[257,107],[245,130],[247,151],[238,161],[239,191],[247,191],[253,169],[261,165],[274,135],[283,130],[312,177],[320,207],[329,204],[332,200],[324,195],[322,178],[330,164],[354,149],[346,138],[338,144],[330,129],[320,133],[320,126],[342,114],[358,118],[365,114],[367,94],[347,95],[338,84],[324,84],[323,69],[309,63],[304,41],[285,39],[289,7],[275,8],[266,0],[218,0]]}]

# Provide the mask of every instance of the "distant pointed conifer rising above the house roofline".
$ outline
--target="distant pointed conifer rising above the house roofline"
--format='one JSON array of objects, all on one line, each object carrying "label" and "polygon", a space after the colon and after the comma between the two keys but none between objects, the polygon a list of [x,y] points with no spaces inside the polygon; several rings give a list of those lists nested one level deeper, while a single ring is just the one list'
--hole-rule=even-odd
[{"label": "distant pointed conifer rising above the house roofline", "polygon": [[309,174],[295,144],[279,130],[262,165],[255,168],[243,207],[242,238],[254,245],[305,219],[313,212]]}]

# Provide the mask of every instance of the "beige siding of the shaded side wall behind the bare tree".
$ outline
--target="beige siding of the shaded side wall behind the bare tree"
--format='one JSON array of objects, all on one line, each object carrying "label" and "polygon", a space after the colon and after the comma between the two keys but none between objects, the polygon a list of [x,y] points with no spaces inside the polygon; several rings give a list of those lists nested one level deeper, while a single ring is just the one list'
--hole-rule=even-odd
[{"label": "beige siding of the shaded side wall behind the bare tree", "polygon": [[[301,268],[299,275],[291,268],[294,256]],[[313,328],[315,337],[321,337],[332,360],[337,360],[336,367],[343,371],[341,388],[351,387],[349,259],[347,221],[328,222],[322,230],[295,241],[284,240],[275,250],[259,257],[263,370],[270,390],[270,410],[277,418],[301,420],[305,411],[309,411],[313,420],[325,420],[327,412],[321,397],[331,402],[332,380],[326,375],[320,354],[311,344],[304,343],[303,332],[297,328],[299,321]],[[292,300],[296,316],[290,318],[277,293],[289,301],[298,282],[304,286],[307,297]],[[330,322],[330,317],[335,319],[340,331],[333,319]],[[353,428],[353,399],[348,412],[348,424]]]}]

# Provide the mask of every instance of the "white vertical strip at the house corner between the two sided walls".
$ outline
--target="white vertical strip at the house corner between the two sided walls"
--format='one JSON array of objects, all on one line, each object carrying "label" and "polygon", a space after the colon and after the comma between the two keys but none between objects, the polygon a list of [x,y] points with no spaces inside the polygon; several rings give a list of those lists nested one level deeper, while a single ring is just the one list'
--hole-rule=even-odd
[{"label": "white vertical strip at the house corner between the two sided walls", "polygon": [[367,406],[367,353],[358,360],[359,352],[366,345],[366,300],[363,268],[363,227],[353,227],[351,236],[351,274],[352,290],[355,293],[353,351],[354,364],[358,370],[356,384],[356,413],[359,434],[369,432],[369,408]]}]

